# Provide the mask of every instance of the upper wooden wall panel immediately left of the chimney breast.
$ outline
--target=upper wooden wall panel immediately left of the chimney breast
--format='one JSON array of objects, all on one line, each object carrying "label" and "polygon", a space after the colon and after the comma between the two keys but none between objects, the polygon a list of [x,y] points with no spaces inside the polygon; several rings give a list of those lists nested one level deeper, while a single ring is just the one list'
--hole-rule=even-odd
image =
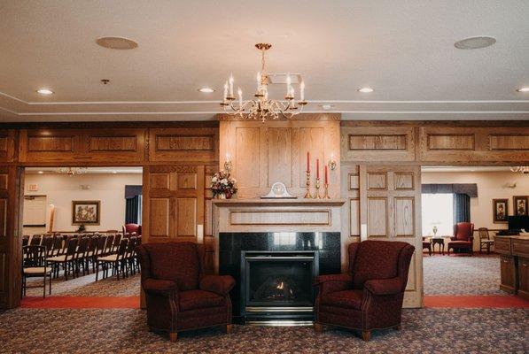
[{"label": "upper wooden wall panel immediately left of the chimney breast", "polygon": [[149,129],[149,160],[208,164],[219,159],[219,129],[175,127]]}]

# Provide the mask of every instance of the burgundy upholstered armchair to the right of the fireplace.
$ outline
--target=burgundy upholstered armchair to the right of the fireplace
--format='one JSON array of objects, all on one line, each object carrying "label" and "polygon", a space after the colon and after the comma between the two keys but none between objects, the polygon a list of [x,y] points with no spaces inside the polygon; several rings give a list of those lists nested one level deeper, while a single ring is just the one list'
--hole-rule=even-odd
[{"label": "burgundy upholstered armchair to the right of the fireplace", "polygon": [[323,325],[362,330],[401,329],[404,289],[415,247],[407,242],[363,241],[349,245],[347,273],[316,278],[315,331]]}]

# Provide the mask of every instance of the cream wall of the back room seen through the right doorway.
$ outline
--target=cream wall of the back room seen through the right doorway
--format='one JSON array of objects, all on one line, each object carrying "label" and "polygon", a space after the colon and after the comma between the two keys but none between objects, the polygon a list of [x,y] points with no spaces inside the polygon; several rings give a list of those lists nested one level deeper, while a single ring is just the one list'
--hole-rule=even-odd
[{"label": "cream wall of the back room seen through the right doorway", "polygon": [[[512,196],[529,195],[529,175],[511,172],[423,172],[422,183],[476,183],[478,197],[471,198],[471,222],[474,227],[507,228],[507,224],[494,224],[493,199],[509,199],[509,215],[514,215]],[[507,183],[516,183],[511,189]],[[493,233],[491,233],[492,235]],[[475,234],[474,249],[478,234]],[[476,248],[477,247],[477,248]]]}]

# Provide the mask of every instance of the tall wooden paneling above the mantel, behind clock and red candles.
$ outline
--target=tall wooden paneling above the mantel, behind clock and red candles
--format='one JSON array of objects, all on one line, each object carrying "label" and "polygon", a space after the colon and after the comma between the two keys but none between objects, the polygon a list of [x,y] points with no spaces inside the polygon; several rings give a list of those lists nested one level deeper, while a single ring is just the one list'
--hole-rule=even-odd
[{"label": "tall wooden paneling above the mantel, behind clock and red candles", "polygon": [[307,151],[311,153],[313,188],[316,158],[320,159],[323,183],[323,166],[334,155],[338,164],[335,171],[329,172],[330,196],[339,197],[338,121],[277,120],[262,123],[223,120],[220,136],[219,168],[224,168],[227,155],[232,158],[232,174],[238,181],[239,197],[253,198],[267,194],[269,186],[275,181],[291,185],[288,187],[291,194],[304,196]]}]

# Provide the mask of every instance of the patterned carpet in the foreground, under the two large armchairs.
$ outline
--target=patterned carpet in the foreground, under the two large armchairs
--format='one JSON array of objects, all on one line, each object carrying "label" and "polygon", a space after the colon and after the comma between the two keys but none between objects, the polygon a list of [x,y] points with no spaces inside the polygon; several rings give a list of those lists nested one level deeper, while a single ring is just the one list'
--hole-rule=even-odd
[{"label": "patterned carpet in the foreground, under the two large armchairs", "polygon": [[26,310],[0,314],[2,353],[524,353],[529,311],[406,310],[398,331],[362,342],[353,332],[311,327],[235,326],[183,333],[171,343],[147,332],[141,310]]}]

